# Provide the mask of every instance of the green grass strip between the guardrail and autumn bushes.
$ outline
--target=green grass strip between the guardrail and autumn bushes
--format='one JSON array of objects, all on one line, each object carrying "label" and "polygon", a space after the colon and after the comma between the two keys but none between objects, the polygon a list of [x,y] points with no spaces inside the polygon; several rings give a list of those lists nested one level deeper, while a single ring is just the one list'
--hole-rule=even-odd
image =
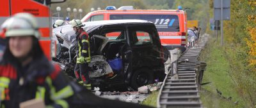
[{"label": "green grass strip between the guardrail and autumn bushes", "polygon": [[[225,48],[210,40],[205,50],[202,51],[200,59],[207,62],[203,83],[211,82],[203,85],[202,91],[206,92],[200,93],[204,107],[243,107],[243,99],[236,92],[236,86],[231,78]],[[221,97],[217,95],[216,89],[222,92]],[[232,99],[225,99],[228,97]],[[239,102],[238,105],[234,104],[236,101]]]}]

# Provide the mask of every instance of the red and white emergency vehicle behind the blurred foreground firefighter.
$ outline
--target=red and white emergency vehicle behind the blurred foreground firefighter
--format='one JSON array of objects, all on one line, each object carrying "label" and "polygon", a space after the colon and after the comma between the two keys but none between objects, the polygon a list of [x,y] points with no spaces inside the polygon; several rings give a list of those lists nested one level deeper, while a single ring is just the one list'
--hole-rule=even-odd
[{"label": "red and white emergency vehicle behind the blurred foreground firefighter", "polygon": [[[1,0],[0,25],[15,13],[31,13],[38,20],[41,32],[40,45],[49,60],[56,57],[56,42],[51,40],[51,10],[49,4],[62,3],[65,0]],[[4,37],[4,30],[1,37]]]}]

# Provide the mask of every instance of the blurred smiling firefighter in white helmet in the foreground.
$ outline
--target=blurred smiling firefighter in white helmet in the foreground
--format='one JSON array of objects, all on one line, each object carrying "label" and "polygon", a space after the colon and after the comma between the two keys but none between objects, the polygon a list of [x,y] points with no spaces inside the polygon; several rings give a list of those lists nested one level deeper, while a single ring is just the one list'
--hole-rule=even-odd
[{"label": "blurred smiling firefighter in white helmet in the foreground", "polygon": [[0,61],[0,107],[19,107],[42,99],[47,107],[68,107],[75,93],[58,65],[40,48],[35,17],[17,13],[6,25],[6,48]]}]

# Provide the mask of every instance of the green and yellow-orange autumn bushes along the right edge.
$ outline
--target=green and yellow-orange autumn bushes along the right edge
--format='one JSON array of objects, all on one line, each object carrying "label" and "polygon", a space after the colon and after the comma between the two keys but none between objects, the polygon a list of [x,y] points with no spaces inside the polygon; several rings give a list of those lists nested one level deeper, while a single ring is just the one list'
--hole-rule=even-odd
[{"label": "green and yellow-orange autumn bushes along the right edge", "polygon": [[230,76],[245,107],[256,107],[256,1],[233,0],[225,22],[225,48]]}]

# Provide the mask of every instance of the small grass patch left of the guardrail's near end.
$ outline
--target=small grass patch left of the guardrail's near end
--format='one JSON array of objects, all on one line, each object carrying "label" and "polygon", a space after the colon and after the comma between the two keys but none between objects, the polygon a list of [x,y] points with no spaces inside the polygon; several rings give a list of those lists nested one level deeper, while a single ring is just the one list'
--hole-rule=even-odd
[{"label": "small grass patch left of the guardrail's near end", "polygon": [[156,101],[157,101],[157,95],[158,95],[159,91],[153,91],[148,97],[147,99],[145,99],[142,104],[143,105],[149,105],[152,107],[157,107],[156,105]]}]

